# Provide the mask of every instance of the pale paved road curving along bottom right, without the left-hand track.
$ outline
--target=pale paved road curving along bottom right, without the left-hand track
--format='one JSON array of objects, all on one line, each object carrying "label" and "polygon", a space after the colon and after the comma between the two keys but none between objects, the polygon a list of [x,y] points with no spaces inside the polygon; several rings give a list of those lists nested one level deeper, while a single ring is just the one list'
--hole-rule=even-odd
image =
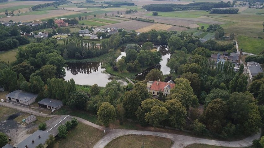
[{"label": "pale paved road curving along bottom right, without the left-hand track", "polygon": [[217,141],[217,140],[209,140],[209,139],[203,139],[197,137],[190,137],[190,136],[184,136],[184,135],[178,135],[172,133],[137,131],[137,130],[128,130],[128,129],[112,129],[107,132],[108,134],[105,135],[99,142],[97,142],[94,148],[103,148],[113,139],[123,135],[130,135],[130,134],[151,135],[151,136],[169,138],[174,141],[172,148],[183,148],[185,146],[195,143],[208,144],[213,146],[226,146],[226,147],[248,147],[252,145],[251,141],[253,141],[254,139],[258,139],[261,136],[261,133],[257,133],[243,140],[227,142],[227,141]]}]

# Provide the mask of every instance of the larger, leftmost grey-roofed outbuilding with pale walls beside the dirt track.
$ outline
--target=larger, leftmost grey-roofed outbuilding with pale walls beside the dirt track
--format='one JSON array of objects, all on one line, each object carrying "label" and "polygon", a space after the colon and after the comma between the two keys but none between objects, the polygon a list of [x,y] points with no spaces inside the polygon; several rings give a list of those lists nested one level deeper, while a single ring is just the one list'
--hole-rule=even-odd
[{"label": "larger, leftmost grey-roofed outbuilding with pale walls beside the dirt track", "polygon": [[16,90],[6,95],[6,99],[18,102],[25,105],[30,105],[36,101],[37,94],[32,94],[26,91]]}]

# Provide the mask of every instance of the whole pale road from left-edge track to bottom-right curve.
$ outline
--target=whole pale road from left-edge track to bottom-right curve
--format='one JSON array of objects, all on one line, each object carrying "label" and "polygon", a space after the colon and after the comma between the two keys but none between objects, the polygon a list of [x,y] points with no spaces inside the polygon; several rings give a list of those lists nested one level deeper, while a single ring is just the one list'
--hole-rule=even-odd
[{"label": "whole pale road from left-edge track to bottom-right curve", "polygon": [[[30,112],[31,114],[37,115],[37,116],[58,117],[55,115],[46,115],[46,114],[34,111],[31,108],[26,108],[26,107],[19,106],[16,104],[11,104],[8,102],[0,102],[0,105],[6,106],[9,108],[14,108],[14,109],[20,110],[22,112]],[[138,131],[138,130],[128,130],[128,129],[107,129],[103,126],[96,125],[96,124],[94,124],[90,121],[87,121],[85,119],[82,119],[79,117],[75,117],[75,118],[77,118],[78,121],[80,121],[86,125],[92,126],[96,129],[106,130],[106,132],[108,133],[102,139],[100,139],[99,142],[97,142],[95,144],[94,148],[103,148],[113,139],[120,137],[120,136],[123,136],[123,135],[130,135],[130,134],[152,135],[152,136],[169,138],[169,139],[174,141],[174,145],[172,146],[172,148],[183,148],[185,146],[188,146],[188,145],[194,144],[194,143],[208,144],[208,145],[214,145],[214,146],[227,146],[227,147],[248,147],[248,146],[252,145],[251,142],[254,139],[259,139],[261,136],[261,133],[257,133],[255,135],[249,136],[249,137],[247,137],[243,140],[240,140],[240,141],[226,142],[226,141],[209,140],[209,139],[204,139],[204,138],[190,137],[190,136],[178,135],[178,134],[172,134],[172,133]]]}]

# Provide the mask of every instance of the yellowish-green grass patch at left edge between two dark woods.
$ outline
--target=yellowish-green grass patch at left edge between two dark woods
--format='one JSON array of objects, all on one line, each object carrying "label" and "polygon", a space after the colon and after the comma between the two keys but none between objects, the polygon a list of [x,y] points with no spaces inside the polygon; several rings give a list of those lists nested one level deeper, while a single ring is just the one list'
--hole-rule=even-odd
[{"label": "yellowish-green grass patch at left edge between two dark woods", "polygon": [[[25,48],[27,45],[22,45],[19,46],[21,48]],[[16,52],[17,52],[17,48],[15,49],[11,49],[8,51],[4,51],[4,52],[0,52],[0,60],[4,61],[4,62],[12,62],[16,60]]]}]

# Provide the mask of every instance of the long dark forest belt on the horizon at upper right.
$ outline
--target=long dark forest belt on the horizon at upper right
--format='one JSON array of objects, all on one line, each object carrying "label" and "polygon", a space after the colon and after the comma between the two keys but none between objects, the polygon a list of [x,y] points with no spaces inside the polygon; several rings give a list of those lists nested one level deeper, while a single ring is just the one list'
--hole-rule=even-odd
[{"label": "long dark forest belt on the horizon at upper right", "polygon": [[195,2],[190,4],[149,4],[144,5],[142,8],[147,11],[186,11],[186,10],[211,10],[212,8],[225,8],[233,7],[230,3],[226,2]]}]

